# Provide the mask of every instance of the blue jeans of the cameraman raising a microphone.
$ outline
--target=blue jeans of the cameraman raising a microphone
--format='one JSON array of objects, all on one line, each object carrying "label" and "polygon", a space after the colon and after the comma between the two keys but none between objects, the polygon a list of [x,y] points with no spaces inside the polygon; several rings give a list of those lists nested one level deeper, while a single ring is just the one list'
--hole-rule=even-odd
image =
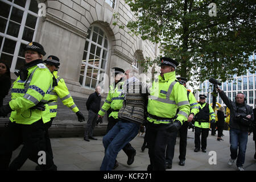
[{"label": "blue jeans of the cameraman raising a microphone", "polygon": [[[231,159],[237,158],[237,167],[241,167],[243,166],[243,163],[245,163],[245,151],[248,140],[248,133],[247,131],[230,129],[229,136]],[[237,148],[239,148],[238,155]]]}]

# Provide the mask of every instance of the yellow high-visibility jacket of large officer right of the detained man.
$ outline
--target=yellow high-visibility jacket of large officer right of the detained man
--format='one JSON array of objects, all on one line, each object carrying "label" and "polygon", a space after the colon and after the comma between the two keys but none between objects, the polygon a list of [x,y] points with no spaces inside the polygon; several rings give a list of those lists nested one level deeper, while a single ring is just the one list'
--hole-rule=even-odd
[{"label": "yellow high-visibility jacket of large officer right of the detained man", "polygon": [[176,80],[176,73],[164,73],[159,76],[150,88],[148,97],[147,112],[156,117],[166,119],[155,119],[148,115],[147,120],[155,124],[170,123],[174,118],[176,110],[179,108],[176,120],[181,122],[188,120],[190,105],[188,102],[187,89]]}]

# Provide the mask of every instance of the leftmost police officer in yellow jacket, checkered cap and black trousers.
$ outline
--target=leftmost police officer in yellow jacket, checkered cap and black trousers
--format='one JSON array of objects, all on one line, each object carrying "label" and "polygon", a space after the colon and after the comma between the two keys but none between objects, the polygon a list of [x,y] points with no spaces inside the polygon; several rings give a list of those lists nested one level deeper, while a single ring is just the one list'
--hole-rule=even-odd
[{"label": "leftmost police officer in yellow jacket, checkered cap and black trousers", "polygon": [[[0,170],[17,170],[27,158],[39,163],[40,156],[46,160],[40,165],[50,168],[52,158],[46,151],[44,123],[50,121],[49,93],[52,76],[43,64],[46,55],[41,44],[30,42],[24,48],[26,64],[20,68],[19,76],[13,83],[11,101],[0,108],[0,116],[10,115],[10,122],[0,138]],[[11,155],[20,144],[24,144],[22,155],[17,163],[9,168]]]}]

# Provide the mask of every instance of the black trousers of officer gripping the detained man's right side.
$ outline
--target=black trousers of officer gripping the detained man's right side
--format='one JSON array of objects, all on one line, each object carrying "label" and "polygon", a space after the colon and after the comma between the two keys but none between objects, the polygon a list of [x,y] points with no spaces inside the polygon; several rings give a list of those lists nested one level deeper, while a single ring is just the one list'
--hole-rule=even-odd
[{"label": "black trousers of officer gripping the detained man's right side", "polygon": [[170,133],[166,131],[168,125],[147,124],[147,146],[150,166],[153,171],[166,170],[166,146]]}]

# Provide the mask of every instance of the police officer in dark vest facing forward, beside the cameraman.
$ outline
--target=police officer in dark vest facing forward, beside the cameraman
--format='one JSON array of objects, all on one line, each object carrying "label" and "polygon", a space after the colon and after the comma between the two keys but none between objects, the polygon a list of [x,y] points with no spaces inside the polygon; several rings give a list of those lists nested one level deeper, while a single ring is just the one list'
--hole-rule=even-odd
[{"label": "police officer in dark vest facing forward, beside the cameraman", "polygon": [[[210,123],[215,122],[215,113],[212,107],[205,102],[205,98],[207,98],[207,96],[203,94],[199,95],[199,113],[195,116],[195,152],[200,151],[200,146],[202,151],[206,152],[209,125]],[[202,137],[200,142],[201,134]]]}]

